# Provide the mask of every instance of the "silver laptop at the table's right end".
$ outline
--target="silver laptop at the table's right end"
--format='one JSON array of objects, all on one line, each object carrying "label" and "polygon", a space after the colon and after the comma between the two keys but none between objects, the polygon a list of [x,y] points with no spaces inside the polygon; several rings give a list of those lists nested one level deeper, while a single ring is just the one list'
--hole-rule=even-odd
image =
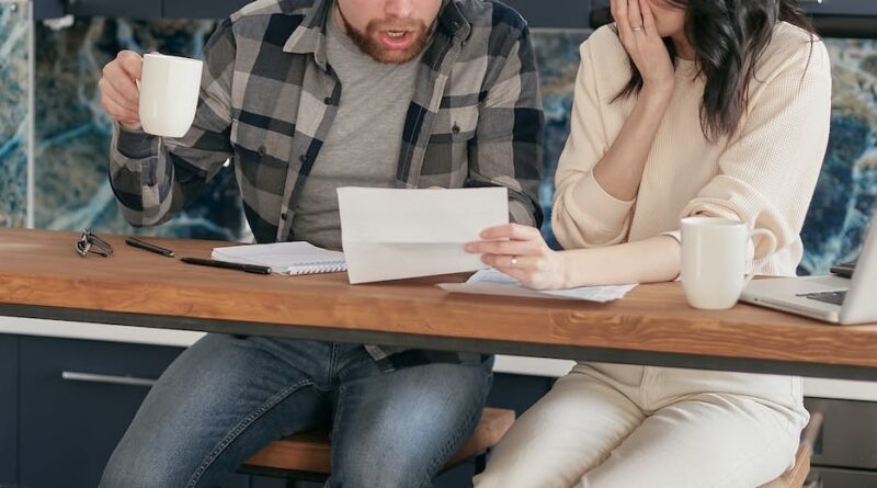
[{"label": "silver laptop at the table's right end", "polygon": [[772,277],[749,282],[747,302],[833,324],[877,322],[877,216],[852,277]]}]

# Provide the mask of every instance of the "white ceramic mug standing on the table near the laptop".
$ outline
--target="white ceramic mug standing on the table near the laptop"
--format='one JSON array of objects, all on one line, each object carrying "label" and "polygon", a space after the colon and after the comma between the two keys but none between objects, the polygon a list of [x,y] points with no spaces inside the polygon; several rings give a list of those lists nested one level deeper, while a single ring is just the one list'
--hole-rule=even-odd
[{"label": "white ceramic mug standing on the table near the laptop", "polygon": [[750,231],[739,220],[718,217],[682,219],[682,287],[688,305],[721,310],[731,308],[753,273],[745,274],[749,242],[764,237],[765,256],[776,251],[776,237],[766,229]]}]

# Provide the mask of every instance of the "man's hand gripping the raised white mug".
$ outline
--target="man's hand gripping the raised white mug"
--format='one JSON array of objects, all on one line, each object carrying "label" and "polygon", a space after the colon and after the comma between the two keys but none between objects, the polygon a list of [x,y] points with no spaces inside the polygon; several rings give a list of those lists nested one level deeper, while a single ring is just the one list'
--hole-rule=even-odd
[{"label": "man's hand gripping the raised white mug", "polygon": [[140,79],[144,60],[133,50],[123,50],[103,67],[103,76],[98,82],[101,90],[101,104],[110,116],[129,129],[140,128]]}]

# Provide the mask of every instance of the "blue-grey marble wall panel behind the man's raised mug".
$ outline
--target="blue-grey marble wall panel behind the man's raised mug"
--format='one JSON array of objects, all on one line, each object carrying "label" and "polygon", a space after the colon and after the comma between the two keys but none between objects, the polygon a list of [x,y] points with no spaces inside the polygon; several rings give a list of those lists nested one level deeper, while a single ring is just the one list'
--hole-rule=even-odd
[{"label": "blue-grey marble wall panel behind the man's raised mug", "polygon": [[121,216],[106,168],[112,125],[100,105],[102,67],[122,49],[201,58],[212,21],[77,19],[36,31],[36,226],[232,240],[242,211],[231,168],[173,220],[133,229]]}]

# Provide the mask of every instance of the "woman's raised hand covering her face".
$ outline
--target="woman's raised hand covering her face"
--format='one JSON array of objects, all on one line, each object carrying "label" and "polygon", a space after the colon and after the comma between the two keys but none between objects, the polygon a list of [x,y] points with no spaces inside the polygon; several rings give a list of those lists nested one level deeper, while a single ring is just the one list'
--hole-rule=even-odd
[{"label": "woman's raised hand covering her face", "polygon": [[612,16],[622,45],[642,76],[643,91],[672,93],[675,75],[649,0],[611,0]]}]

